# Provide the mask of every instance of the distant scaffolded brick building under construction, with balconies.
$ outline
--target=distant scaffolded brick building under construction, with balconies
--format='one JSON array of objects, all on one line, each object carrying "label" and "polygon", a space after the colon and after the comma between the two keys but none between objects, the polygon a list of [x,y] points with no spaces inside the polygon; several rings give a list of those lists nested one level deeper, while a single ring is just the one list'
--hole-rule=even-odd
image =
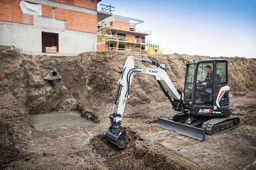
[{"label": "distant scaffolded brick building under construction, with balconies", "polygon": [[[146,36],[150,30],[140,29],[142,20],[121,15],[112,15],[98,22],[98,50],[127,50],[141,52],[141,50],[158,51],[159,46],[150,44]],[[147,49],[146,49],[147,48]]]}]

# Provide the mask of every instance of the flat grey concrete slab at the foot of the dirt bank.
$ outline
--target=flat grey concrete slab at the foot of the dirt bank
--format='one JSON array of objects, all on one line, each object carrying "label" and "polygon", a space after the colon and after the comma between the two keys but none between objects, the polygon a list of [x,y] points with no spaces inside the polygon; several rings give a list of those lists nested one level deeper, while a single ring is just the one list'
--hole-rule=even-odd
[{"label": "flat grey concrete slab at the foot of the dirt bank", "polygon": [[55,129],[83,127],[91,122],[81,117],[78,112],[54,112],[30,115],[29,121],[36,130],[49,131]]}]

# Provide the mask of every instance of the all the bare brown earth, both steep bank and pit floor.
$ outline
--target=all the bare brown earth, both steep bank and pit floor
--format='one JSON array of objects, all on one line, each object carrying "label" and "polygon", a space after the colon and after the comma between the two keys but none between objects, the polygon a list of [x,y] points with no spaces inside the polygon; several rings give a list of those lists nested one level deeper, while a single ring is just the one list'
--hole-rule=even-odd
[{"label": "all the bare brown earth, both steep bank and pit floor", "polygon": [[[166,65],[183,88],[187,60],[206,56],[95,52],[74,57],[30,56],[0,46],[0,167],[4,169],[253,169],[256,160],[256,60],[230,58],[229,84],[239,128],[206,135],[199,142],[158,128],[158,116],[171,112],[157,83],[134,76],[123,125],[129,146],[113,147],[103,134],[116,82],[128,55]],[[43,78],[57,69],[62,79]],[[50,131],[36,130],[30,115],[77,112],[90,121]],[[61,115],[61,114],[60,114]],[[254,163],[254,164],[253,164]]]}]

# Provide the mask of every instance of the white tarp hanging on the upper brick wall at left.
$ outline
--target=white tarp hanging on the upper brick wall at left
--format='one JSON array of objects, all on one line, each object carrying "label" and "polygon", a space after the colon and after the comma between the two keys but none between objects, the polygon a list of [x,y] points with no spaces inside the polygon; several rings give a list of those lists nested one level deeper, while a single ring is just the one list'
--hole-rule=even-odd
[{"label": "white tarp hanging on the upper brick wall at left", "polygon": [[23,13],[30,15],[39,15],[42,16],[42,5],[41,4],[32,4],[25,1],[20,2],[20,8]]}]

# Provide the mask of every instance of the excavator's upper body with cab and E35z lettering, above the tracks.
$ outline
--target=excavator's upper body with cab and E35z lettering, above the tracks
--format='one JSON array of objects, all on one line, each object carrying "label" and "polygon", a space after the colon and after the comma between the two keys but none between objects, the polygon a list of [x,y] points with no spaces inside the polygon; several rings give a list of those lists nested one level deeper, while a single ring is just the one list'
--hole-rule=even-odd
[{"label": "excavator's upper body with cab and E35z lettering, above the tracks", "polygon": [[[189,109],[189,114],[195,116],[230,115],[233,102],[229,101],[227,83],[227,60],[200,60],[187,63],[183,106]],[[210,109],[209,112],[206,112],[206,109]]]}]

